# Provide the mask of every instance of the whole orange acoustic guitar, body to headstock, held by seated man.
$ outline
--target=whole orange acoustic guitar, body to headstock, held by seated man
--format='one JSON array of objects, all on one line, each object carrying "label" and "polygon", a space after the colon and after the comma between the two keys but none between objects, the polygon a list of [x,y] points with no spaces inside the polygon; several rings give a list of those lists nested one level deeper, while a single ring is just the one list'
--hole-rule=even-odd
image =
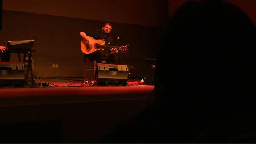
[{"label": "whole orange acoustic guitar, body to headstock, held by seated man", "polygon": [[[112,48],[116,48],[118,51],[125,53],[128,50],[127,45],[126,46],[109,46],[109,45],[105,45],[104,40],[96,40],[93,37],[90,36],[86,36],[86,39],[82,39],[81,41],[81,50],[83,53],[85,54],[90,54],[93,53],[97,50],[100,49],[112,49]],[[90,43],[92,44],[92,46],[88,45],[88,41],[90,41]]]}]

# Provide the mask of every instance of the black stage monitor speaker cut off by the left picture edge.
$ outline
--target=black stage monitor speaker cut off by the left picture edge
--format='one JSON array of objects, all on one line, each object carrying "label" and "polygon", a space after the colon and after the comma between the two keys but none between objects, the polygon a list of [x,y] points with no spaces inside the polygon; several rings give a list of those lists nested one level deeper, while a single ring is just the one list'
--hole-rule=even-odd
[{"label": "black stage monitor speaker cut off by the left picture edge", "polygon": [[0,62],[0,87],[22,87],[24,83],[24,63]]}]

